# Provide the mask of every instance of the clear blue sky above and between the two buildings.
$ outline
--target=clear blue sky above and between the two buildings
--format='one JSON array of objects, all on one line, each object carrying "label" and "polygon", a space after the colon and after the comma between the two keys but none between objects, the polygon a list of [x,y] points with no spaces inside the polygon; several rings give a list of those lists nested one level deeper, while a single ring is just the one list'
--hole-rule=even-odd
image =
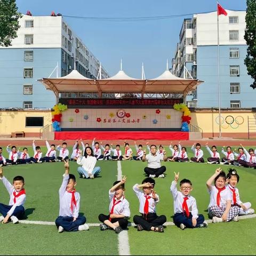
[{"label": "clear blue sky above and between the two buildings", "polygon": [[[19,11],[33,15],[82,17],[153,17],[216,10],[215,0],[17,0]],[[223,8],[246,10],[246,0],[221,0]],[[131,77],[141,78],[144,63],[146,78],[154,78],[166,69],[166,59],[173,58],[184,18],[151,21],[95,21],[65,18],[75,33],[102,62],[110,75],[120,69]]]}]

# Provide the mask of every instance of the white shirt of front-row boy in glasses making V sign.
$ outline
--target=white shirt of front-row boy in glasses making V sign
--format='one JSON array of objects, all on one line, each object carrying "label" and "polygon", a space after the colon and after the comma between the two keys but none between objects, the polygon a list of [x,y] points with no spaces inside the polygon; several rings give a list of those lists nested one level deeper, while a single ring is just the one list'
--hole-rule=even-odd
[{"label": "white shirt of front-row boy in glasses making V sign", "polygon": [[188,210],[189,212],[191,212],[192,217],[197,219],[198,218],[198,210],[197,210],[197,206],[196,206],[196,199],[193,196],[185,196],[183,195],[180,191],[177,190],[177,182],[172,181],[172,185],[171,185],[171,193],[173,196],[173,209],[174,209],[174,214],[175,213],[182,213],[183,212],[183,208],[182,208],[182,204],[184,202],[184,197],[188,197],[187,199],[187,205],[188,205]]}]

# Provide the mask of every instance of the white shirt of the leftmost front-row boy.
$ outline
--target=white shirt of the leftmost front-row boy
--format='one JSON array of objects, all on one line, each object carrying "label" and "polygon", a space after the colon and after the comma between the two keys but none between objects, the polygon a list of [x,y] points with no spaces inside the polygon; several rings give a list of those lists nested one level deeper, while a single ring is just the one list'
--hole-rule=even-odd
[{"label": "white shirt of the leftmost front-row boy", "polygon": [[[20,205],[23,206],[23,204],[25,204],[25,201],[26,201],[26,194],[23,194],[23,195],[20,195],[20,196],[16,197],[16,203],[14,204],[14,201],[13,201],[13,199],[14,199],[13,192],[15,191],[16,194],[18,194],[20,191],[16,191],[16,190],[14,189],[14,187],[12,186],[12,184],[11,184],[5,177],[0,178],[0,179],[3,181],[4,186],[6,187],[8,193],[9,193],[9,195],[10,195],[9,205],[12,205],[12,207],[11,207],[11,209],[9,210],[9,212],[7,212],[7,214],[9,214],[9,215],[11,216],[11,215],[13,214],[13,212],[14,212],[16,206],[20,206]],[[24,206],[23,206],[23,207],[24,207]]]}]

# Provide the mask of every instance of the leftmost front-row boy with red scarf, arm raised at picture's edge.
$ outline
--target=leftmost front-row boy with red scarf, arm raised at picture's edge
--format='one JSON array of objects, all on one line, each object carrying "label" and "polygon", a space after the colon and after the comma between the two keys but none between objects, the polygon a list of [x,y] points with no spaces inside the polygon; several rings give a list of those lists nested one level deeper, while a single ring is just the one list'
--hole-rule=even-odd
[{"label": "leftmost front-row boy with red scarf, arm raised at picture's edge", "polygon": [[16,176],[13,178],[13,183],[11,184],[3,174],[3,167],[0,165],[0,179],[3,181],[9,195],[10,201],[9,205],[0,203],[0,221],[7,223],[9,219],[13,224],[18,223],[19,219],[25,214],[25,209],[23,204],[26,201],[26,191],[24,189],[24,178],[22,176]]}]

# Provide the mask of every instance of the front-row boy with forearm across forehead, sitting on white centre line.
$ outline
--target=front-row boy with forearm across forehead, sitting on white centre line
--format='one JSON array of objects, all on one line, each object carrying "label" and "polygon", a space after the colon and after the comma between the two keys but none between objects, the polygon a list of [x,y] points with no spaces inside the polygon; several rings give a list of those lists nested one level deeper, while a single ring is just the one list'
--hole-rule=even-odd
[{"label": "front-row boy with forearm across forehead, sitting on white centre line", "polygon": [[128,220],[130,217],[129,202],[124,198],[124,183],[126,177],[121,181],[115,181],[113,187],[109,190],[109,214],[100,214],[99,221],[100,230],[114,229],[116,233],[120,233],[123,229],[127,228]]}]

